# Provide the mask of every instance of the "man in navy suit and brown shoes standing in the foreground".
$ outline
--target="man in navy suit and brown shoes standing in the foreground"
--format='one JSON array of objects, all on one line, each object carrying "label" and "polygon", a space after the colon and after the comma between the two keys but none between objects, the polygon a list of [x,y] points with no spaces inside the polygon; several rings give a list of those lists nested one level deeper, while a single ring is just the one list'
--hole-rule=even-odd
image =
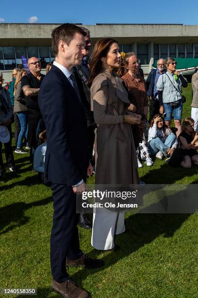
[{"label": "man in navy suit and brown shoes standing in the foreground", "polygon": [[52,182],[53,226],[50,241],[52,286],[63,297],[89,297],[70,280],[69,266],[98,268],[80,250],[76,214],[76,192],[86,190],[86,176],[92,173],[88,159],[87,124],[79,90],[70,70],[81,64],[85,54],[85,33],[74,24],[63,24],[51,34],[55,61],[43,79],[39,107],[46,125],[48,145],[46,179]]}]

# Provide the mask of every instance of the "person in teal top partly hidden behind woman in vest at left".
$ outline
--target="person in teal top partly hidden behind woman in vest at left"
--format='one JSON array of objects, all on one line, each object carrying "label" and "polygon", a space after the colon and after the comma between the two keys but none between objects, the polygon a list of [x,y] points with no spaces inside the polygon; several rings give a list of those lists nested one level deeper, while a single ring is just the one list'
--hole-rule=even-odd
[{"label": "person in teal top partly hidden behind woman in vest at left", "polygon": [[[10,94],[10,99],[12,102],[13,109],[14,109],[14,103],[15,103],[14,87],[15,87],[16,75],[17,75],[18,71],[19,71],[19,68],[15,68],[13,70],[12,81],[9,83],[9,94]],[[15,145],[17,146],[18,135],[20,132],[20,121],[19,121],[16,113],[14,113],[14,121],[15,121]]]}]

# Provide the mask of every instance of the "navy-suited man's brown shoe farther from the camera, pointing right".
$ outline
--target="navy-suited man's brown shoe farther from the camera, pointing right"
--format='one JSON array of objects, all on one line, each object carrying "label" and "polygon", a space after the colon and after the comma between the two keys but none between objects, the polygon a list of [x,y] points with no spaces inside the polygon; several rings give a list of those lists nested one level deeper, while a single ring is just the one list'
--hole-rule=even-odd
[{"label": "navy-suited man's brown shoe farther from the camera, pointing right", "polygon": [[98,259],[91,259],[87,257],[85,254],[82,255],[81,258],[77,260],[68,260],[66,259],[66,265],[70,267],[80,267],[83,266],[88,269],[96,269],[104,266],[104,261]]}]

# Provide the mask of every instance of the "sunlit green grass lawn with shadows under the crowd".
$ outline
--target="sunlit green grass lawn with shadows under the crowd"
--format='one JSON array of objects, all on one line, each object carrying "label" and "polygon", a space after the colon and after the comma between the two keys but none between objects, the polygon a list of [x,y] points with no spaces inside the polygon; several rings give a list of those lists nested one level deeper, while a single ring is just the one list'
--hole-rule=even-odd
[{"label": "sunlit green grass lawn with shadows under the crowd", "polygon": [[[183,116],[190,116],[190,84],[183,93]],[[0,288],[37,288],[37,297],[58,298],[51,289],[49,262],[51,191],[38,183],[27,155],[15,154],[15,160],[17,172],[7,172],[0,181]],[[150,168],[144,165],[139,175],[147,184],[198,183],[198,168],[171,168],[164,160]],[[82,250],[104,260],[105,266],[69,268],[71,278],[94,298],[198,297],[198,215],[125,218],[128,231],[116,237],[121,246],[117,252],[93,249],[91,230],[79,228]]]}]

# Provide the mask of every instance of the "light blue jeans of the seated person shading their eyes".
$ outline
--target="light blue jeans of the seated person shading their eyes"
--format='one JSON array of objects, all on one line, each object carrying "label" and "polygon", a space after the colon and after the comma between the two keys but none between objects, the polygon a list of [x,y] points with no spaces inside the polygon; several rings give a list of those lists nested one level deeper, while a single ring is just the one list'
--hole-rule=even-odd
[{"label": "light blue jeans of the seated person shading their eyes", "polygon": [[154,138],[150,140],[148,144],[148,149],[150,151],[150,155],[155,156],[158,151],[162,151],[165,153],[167,149],[170,149],[176,141],[176,136],[171,133],[165,139],[165,143],[163,143],[160,138]]}]

